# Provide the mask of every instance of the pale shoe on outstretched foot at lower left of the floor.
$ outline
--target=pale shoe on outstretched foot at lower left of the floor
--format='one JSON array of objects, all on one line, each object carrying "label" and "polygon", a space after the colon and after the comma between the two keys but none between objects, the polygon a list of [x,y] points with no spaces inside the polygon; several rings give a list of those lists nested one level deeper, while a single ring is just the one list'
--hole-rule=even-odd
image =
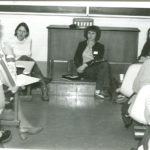
[{"label": "pale shoe on outstretched foot at lower left of the floor", "polygon": [[20,129],[21,133],[28,133],[28,134],[37,134],[43,130],[42,127],[23,127]]}]

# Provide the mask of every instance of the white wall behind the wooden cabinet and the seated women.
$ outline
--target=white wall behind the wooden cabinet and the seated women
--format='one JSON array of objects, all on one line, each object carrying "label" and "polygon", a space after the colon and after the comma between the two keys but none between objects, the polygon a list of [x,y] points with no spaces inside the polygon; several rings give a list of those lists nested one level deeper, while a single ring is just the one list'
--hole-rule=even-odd
[{"label": "white wall behind the wooden cabinet and the seated women", "polygon": [[[6,2],[0,2],[0,4],[6,4]],[[34,2],[7,2],[7,4],[36,4],[36,5],[42,5],[42,2],[34,3]],[[46,3],[44,2],[44,5]],[[53,3],[47,3],[48,5],[82,5],[82,6],[107,6],[107,7],[150,7],[150,3],[133,3],[129,5],[129,3],[125,2],[123,3],[115,3],[115,2],[53,2]],[[74,17],[83,17],[83,16],[77,16],[77,15],[52,15],[52,14],[32,14],[32,13],[0,13],[0,22],[3,27],[3,38],[8,38],[14,34],[15,27],[20,22],[26,22],[29,25],[30,28],[30,35],[33,40],[33,58],[35,60],[39,61],[46,61],[47,60],[47,26],[49,25],[70,25],[72,23],[72,19]],[[84,16],[86,17],[86,16]],[[89,17],[89,16],[87,16]],[[112,17],[112,16],[90,16],[94,19],[94,24],[98,26],[111,26],[111,27],[135,27],[139,28],[141,31],[139,34],[139,47],[138,47],[138,53],[140,54],[140,51],[143,47],[143,44],[146,39],[146,32],[147,29],[150,27],[150,17]]]}]

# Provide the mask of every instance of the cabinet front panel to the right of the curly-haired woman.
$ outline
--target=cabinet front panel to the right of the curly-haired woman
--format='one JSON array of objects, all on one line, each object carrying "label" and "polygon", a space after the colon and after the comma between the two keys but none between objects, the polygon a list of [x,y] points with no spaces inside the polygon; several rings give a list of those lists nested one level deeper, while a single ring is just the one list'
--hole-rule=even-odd
[{"label": "cabinet front panel to the right of the curly-haired woman", "polygon": [[113,62],[134,62],[137,57],[137,32],[102,31],[105,58]]}]

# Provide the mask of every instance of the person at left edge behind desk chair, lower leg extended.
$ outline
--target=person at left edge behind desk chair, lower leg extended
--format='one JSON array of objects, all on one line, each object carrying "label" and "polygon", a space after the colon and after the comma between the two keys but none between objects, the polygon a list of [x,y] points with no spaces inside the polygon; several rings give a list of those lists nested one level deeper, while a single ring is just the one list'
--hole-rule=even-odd
[{"label": "person at left edge behind desk chair, lower leg extended", "polygon": [[[10,72],[12,78],[13,78],[14,77],[14,72],[15,72],[12,69],[12,66],[11,66],[11,65],[13,65],[13,63],[12,63],[13,60],[12,59],[11,60],[10,59],[9,60],[5,59],[5,55],[1,55],[0,56],[0,60],[1,61],[3,60],[5,62],[8,70],[9,70],[9,72]],[[13,67],[14,67],[14,65],[13,65]],[[17,86],[13,86],[12,87],[9,84],[9,82],[6,82],[7,78],[6,78],[5,74],[8,74],[8,72],[5,71],[5,67],[2,64],[0,64],[0,74],[1,74],[0,79],[1,79],[2,84],[5,84],[9,88],[9,90],[12,91],[12,93],[18,92],[17,91],[18,90]],[[17,74],[16,74],[16,76],[17,76]],[[16,78],[13,78],[13,79],[15,80]],[[12,82],[12,81],[10,81],[10,82]],[[1,98],[2,98],[2,102],[4,103],[3,105],[5,106],[5,95],[4,95],[3,89],[1,89]],[[43,130],[42,127],[33,127],[29,123],[29,121],[25,117],[24,113],[22,112],[22,105],[20,104],[19,101],[18,101],[18,119],[20,121],[20,124],[19,124],[19,135],[20,135],[22,140],[27,139],[28,138],[28,134],[37,134],[37,133],[39,133],[39,132],[41,132]]]}]

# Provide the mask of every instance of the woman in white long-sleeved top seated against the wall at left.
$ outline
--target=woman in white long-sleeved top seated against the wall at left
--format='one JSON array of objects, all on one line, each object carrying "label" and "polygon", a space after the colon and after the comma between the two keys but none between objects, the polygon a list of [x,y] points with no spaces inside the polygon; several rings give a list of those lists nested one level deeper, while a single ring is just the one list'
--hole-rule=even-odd
[{"label": "woman in white long-sleeved top seated against the wall at left", "polygon": [[[15,29],[14,37],[4,43],[4,53],[6,55],[9,54],[9,56],[12,55],[12,57],[15,57],[15,60],[34,61],[31,58],[32,40],[29,37],[29,33],[27,24],[20,23]],[[32,69],[31,76],[40,78],[42,98],[43,100],[48,101],[49,96],[47,84],[36,62]]]}]

